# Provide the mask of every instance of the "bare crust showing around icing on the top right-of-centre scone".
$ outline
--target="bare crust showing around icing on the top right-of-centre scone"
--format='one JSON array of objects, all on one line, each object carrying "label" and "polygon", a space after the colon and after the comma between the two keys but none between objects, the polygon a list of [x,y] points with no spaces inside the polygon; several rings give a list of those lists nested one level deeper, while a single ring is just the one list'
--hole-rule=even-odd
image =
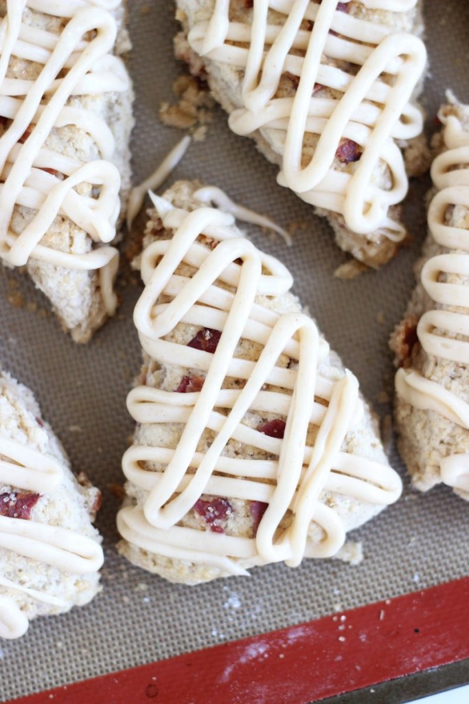
[{"label": "bare crust showing around icing on the top right-of-centre scone", "polygon": [[[191,28],[204,20],[209,20],[214,8],[214,0],[177,0],[179,19],[183,30],[174,41],[176,58],[180,58],[188,63],[191,73],[207,80],[210,91],[222,108],[231,115],[233,111],[243,107],[243,71],[228,63],[221,63],[207,57],[200,57],[195,54],[188,44],[188,32]],[[240,22],[250,22],[252,10],[250,4],[245,0],[231,0],[233,17]],[[368,10],[361,2],[352,0],[349,3],[349,13],[371,23],[380,23],[391,27],[395,32],[411,32],[417,37],[423,36],[423,16],[422,2],[419,1],[416,7],[407,12],[390,12],[384,10]],[[328,60],[333,65],[333,60]],[[414,91],[413,99],[416,99],[423,88],[423,77],[418,82]],[[296,85],[288,75],[283,74],[278,92],[274,97],[292,97],[295,95]],[[325,97],[335,97],[332,89],[322,87],[321,95]],[[269,127],[262,127],[256,130],[250,137],[255,140],[257,148],[264,156],[278,166],[282,165],[284,136],[280,130]],[[314,146],[317,142],[316,135],[307,134],[303,146],[303,161],[307,163],[311,158]],[[404,150],[404,161],[406,171],[409,176],[423,174],[428,170],[430,154],[425,141],[425,137],[409,140],[399,140],[399,147]],[[354,172],[356,163],[342,164],[335,158],[333,168],[338,171]],[[373,181],[379,187],[390,188],[390,174],[383,161],[379,161],[373,172]],[[388,238],[383,232],[375,231],[369,235],[357,234],[347,227],[344,217],[340,213],[331,210],[315,207],[316,213],[325,217],[333,229],[335,241],[344,251],[347,251],[354,258],[364,262],[373,268],[379,268],[387,263],[399,249],[399,243]],[[399,222],[401,221],[401,208],[399,205],[391,206],[388,216]]]}]

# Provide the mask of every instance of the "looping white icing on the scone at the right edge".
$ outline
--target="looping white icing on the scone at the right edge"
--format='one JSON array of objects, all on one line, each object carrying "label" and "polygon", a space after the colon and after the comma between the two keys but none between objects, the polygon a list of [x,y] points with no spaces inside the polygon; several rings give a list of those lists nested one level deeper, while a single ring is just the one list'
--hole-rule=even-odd
[{"label": "looping white icing on the scone at the right edge", "polygon": [[[467,229],[451,225],[451,209],[463,206],[469,212],[469,134],[455,115],[442,120],[446,151],[432,164],[432,180],[439,190],[430,203],[428,226],[433,239],[448,252],[431,257],[423,266],[420,281],[435,308],[422,315],[417,334],[429,355],[467,365],[469,342],[456,336],[469,336],[469,236]],[[459,310],[448,310],[449,306]],[[469,404],[417,370],[400,369],[396,390],[411,406],[433,410],[469,430]],[[469,491],[469,455],[449,455],[439,464],[445,484]]]}]

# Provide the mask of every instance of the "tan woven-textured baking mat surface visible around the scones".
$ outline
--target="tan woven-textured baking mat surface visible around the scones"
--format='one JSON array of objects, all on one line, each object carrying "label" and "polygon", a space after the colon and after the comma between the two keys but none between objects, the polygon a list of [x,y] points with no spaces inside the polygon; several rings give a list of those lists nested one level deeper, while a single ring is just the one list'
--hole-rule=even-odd
[{"label": "tan woven-textured baking mat surface visible around the scones", "polygon": [[[177,30],[169,0],[129,0],[134,49],[129,68],[136,88],[134,180],[153,171],[181,132],[158,119],[174,101],[172,83],[183,72],[172,54]],[[469,3],[426,0],[430,76],[425,84],[428,132],[445,89],[469,102]],[[333,277],[347,256],[333,244],[326,222],[276,185],[277,168],[254,144],[229,132],[215,108],[203,142],[194,142],[175,178],[217,184],[233,199],[269,213],[284,227],[296,223],[294,244],[254,232],[257,244],[293,271],[295,292],[309,306],[331,346],[359,377],[382,418],[390,414],[394,370],[387,339],[414,285],[413,264],[425,235],[427,180],[413,181],[405,206],[412,240],[379,272],[352,281]],[[76,471],[103,491],[98,528],[106,562],[103,591],[91,605],[38,619],[19,641],[0,643],[0,700],[94,677],[144,662],[311,620],[334,610],[423,589],[468,573],[469,505],[439,486],[413,491],[392,445],[404,494],[378,518],[352,533],[364,560],[304,560],[297,569],[270,565],[252,577],[187,587],[164,582],[117,555],[115,514],[122,483],[120,458],[133,423],[125,398],[139,372],[141,352],[131,314],[141,289],[122,286],[122,306],[87,346],[61,332],[45,299],[20,272],[0,270],[0,363],[37,395]],[[347,641],[344,642],[347,648]]]}]

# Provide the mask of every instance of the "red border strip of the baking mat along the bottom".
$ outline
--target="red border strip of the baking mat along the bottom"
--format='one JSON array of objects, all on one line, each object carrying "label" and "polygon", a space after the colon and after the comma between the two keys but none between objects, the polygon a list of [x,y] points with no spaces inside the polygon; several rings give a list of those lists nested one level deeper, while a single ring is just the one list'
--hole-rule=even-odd
[{"label": "red border strip of the baking mat along the bottom", "polygon": [[465,660],[468,623],[465,577],[14,701],[306,704]]}]

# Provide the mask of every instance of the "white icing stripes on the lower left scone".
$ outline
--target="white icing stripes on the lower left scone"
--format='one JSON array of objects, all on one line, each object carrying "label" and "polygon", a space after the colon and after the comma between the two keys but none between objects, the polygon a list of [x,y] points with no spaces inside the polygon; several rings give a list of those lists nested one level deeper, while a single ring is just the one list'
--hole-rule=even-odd
[{"label": "white icing stripes on the lower left scone", "polygon": [[[37,494],[51,494],[63,482],[63,468],[46,455],[6,436],[0,436],[0,484]],[[33,509],[34,510],[34,509]],[[90,574],[103,564],[103,550],[94,539],[70,529],[32,519],[0,515],[0,548],[57,567],[62,572]],[[72,604],[46,591],[30,589],[0,575],[0,638],[14,639],[27,630],[28,620],[10,596],[19,591],[62,610]]]}]

